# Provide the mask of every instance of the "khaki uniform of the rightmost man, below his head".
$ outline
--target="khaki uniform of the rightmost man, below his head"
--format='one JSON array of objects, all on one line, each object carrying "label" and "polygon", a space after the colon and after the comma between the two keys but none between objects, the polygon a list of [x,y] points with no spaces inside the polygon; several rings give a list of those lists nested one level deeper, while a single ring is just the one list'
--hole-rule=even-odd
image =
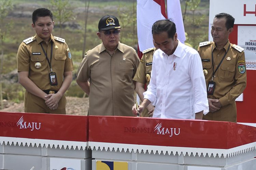
[{"label": "khaki uniform of the rightmost man, below his head", "polygon": [[[228,50],[229,45],[230,48]],[[246,68],[243,49],[237,45],[230,44],[229,41],[221,50],[216,49],[214,42],[204,42],[204,44],[198,47],[207,87],[212,80],[213,68],[215,71],[226,51],[227,54],[213,78],[213,81],[216,83],[214,93],[213,95],[208,95],[208,98],[218,99],[222,107],[214,113],[209,112],[207,115],[204,115],[203,119],[206,120],[237,121],[235,100],[246,86]]]}]

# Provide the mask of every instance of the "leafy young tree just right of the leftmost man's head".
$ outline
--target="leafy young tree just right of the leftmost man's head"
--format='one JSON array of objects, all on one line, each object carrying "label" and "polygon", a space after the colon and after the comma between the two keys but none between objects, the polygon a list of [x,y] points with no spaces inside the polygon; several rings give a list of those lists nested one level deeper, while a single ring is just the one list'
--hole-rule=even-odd
[{"label": "leafy young tree just right of the leftmost man's head", "polygon": [[62,26],[64,22],[71,19],[72,11],[69,9],[69,0],[50,0],[52,5],[52,13],[58,21],[60,27],[60,35],[62,34]]}]

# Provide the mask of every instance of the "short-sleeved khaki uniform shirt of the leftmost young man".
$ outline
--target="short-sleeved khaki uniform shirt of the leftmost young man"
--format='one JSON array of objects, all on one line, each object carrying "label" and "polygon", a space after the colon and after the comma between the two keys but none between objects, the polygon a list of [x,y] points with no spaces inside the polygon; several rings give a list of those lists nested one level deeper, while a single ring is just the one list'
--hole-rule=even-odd
[{"label": "short-sleeved khaki uniform shirt of the leftmost young man", "polygon": [[[68,45],[62,38],[51,35],[48,46],[38,35],[31,37],[33,41],[20,44],[17,52],[17,65],[19,71],[28,71],[28,78],[32,80],[41,90],[59,90],[63,82],[63,74],[66,71],[73,71],[73,63]],[[25,40],[24,40],[25,41]],[[51,41],[53,41],[53,54],[51,61]],[[28,43],[28,44],[26,44]],[[49,80],[50,66],[46,56],[40,46],[42,44],[53,72],[57,76],[57,86],[51,86]],[[40,68],[35,67],[35,63],[40,63]]]}]

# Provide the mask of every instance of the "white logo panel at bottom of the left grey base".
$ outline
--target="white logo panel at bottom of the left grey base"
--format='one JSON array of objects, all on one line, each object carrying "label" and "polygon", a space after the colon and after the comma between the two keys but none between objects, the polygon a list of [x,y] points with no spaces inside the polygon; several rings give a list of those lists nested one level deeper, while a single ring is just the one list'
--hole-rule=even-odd
[{"label": "white logo panel at bottom of the left grey base", "polygon": [[81,160],[50,158],[50,170],[81,170]]}]

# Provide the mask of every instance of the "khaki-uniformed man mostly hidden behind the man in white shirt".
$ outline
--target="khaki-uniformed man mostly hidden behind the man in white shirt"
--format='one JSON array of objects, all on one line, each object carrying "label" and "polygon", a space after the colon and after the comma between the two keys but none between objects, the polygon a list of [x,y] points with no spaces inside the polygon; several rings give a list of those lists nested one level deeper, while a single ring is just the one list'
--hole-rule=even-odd
[{"label": "khaki-uniformed man mostly hidden behind the man in white shirt", "polygon": [[[133,78],[136,81],[136,92],[140,97],[140,100],[143,101],[144,95],[143,92],[146,90],[144,89],[145,83],[146,86],[150,83],[150,76],[152,70],[152,61],[153,61],[153,54],[156,51],[156,48],[150,48],[144,50],[142,53],[142,57],[140,60],[139,67],[136,71],[136,74]],[[150,103],[142,112],[142,117],[152,117],[154,112],[154,106]]]}]

